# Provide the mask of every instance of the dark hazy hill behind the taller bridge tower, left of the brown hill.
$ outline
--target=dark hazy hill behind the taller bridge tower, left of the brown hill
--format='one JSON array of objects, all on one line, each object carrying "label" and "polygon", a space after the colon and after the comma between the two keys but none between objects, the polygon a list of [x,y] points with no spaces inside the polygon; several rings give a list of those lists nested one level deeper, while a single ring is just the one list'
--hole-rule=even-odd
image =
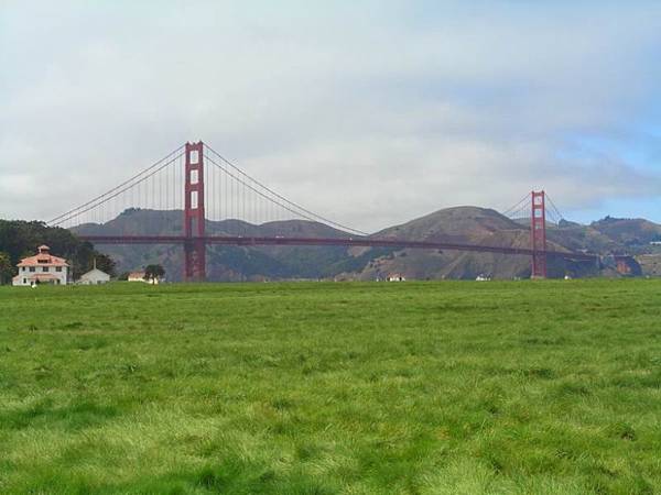
[{"label": "dark hazy hill behind the taller bridge tower, left of the brown hill", "polygon": [[[104,223],[86,223],[75,231],[87,235],[176,235],[183,230],[183,212],[131,209]],[[210,235],[339,238],[345,232],[310,221],[275,221],[253,226],[239,220],[207,221]],[[148,264],[162,264],[166,278],[180,280],[183,254],[177,245],[101,245],[104,252],[127,272]],[[214,245],[207,250],[207,276],[210,280],[240,282],[264,279],[322,278],[342,271],[350,260],[342,246],[240,248]],[[333,268],[338,264],[340,267]]]}]

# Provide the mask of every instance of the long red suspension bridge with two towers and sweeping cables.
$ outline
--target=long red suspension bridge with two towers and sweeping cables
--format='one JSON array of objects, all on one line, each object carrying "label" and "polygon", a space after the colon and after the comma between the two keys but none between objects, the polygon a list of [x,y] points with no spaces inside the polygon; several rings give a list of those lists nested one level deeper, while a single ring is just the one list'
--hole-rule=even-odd
[{"label": "long red suspension bridge with two towers and sweeping cables", "polygon": [[[531,275],[546,277],[546,262],[560,257],[574,262],[599,260],[597,254],[550,250],[546,223],[562,215],[544,191],[532,191],[503,215],[530,226],[528,248],[453,243],[438,240],[379,239],[360,230],[315,213],[252,178],[202,141],[186,143],[128,180],[94,199],[66,211],[47,223],[79,230],[83,226],[104,224],[131,208],[181,210],[181,232],[148,234],[112,232],[80,234],[94,244],[177,244],[184,251],[184,279],[206,279],[206,249],[210,244],[238,246],[310,245],[365,246],[421,250],[456,250],[499,253],[531,258]],[[221,235],[207,234],[207,222],[225,220]],[[306,220],[332,227],[337,237],[299,237],[278,232],[288,220]],[[272,234],[252,235],[250,224],[269,224]]]}]

